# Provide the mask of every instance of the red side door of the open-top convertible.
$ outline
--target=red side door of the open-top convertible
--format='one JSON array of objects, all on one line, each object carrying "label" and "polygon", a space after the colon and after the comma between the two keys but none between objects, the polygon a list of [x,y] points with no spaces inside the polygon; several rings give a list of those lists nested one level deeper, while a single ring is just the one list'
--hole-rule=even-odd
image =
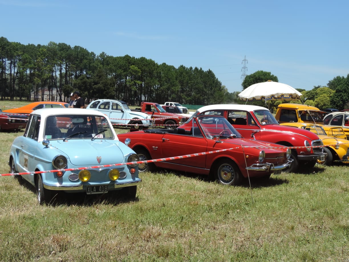
[{"label": "red side door of the open-top convertible", "polygon": [[[207,141],[204,137],[167,133],[162,138],[161,152],[164,158],[207,152]],[[196,168],[205,168],[206,155],[171,159],[166,162]]]}]

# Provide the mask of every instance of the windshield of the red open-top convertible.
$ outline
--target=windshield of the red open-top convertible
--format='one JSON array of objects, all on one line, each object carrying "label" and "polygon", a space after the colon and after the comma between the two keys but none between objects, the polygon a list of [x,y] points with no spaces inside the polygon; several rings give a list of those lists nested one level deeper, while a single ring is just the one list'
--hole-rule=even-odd
[{"label": "windshield of the red open-top convertible", "polygon": [[[195,129],[198,129],[197,123],[200,126],[200,130],[195,131]],[[193,118],[192,125],[194,136],[198,136],[197,134],[200,133],[202,135],[203,133],[208,139],[213,139],[214,137],[219,137],[220,139],[234,137],[241,138],[241,134],[233,128],[224,117],[210,115],[199,116]]]}]

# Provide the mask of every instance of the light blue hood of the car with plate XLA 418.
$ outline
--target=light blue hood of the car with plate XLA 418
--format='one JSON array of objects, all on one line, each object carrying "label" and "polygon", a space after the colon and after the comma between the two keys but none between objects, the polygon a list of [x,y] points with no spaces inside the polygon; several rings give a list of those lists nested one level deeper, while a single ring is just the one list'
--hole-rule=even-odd
[{"label": "light blue hood of the car with plate XLA 418", "polygon": [[64,142],[51,140],[50,146],[67,155],[74,166],[96,166],[124,162],[119,143],[114,140],[70,139]]}]

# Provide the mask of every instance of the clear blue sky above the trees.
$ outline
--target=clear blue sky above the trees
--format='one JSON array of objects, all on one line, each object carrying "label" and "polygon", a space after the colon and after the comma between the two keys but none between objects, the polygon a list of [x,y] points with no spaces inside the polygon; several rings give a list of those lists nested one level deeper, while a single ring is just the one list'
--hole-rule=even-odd
[{"label": "clear blue sky above the trees", "polygon": [[210,69],[229,92],[246,74],[271,72],[310,90],[349,73],[349,2],[0,0],[10,42],[81,46]]}]

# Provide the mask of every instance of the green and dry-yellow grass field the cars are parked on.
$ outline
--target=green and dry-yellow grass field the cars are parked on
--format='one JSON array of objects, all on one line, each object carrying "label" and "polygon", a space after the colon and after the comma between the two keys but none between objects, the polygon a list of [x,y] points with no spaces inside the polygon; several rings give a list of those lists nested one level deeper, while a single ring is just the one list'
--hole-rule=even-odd
[{"label": "green and dry-yellow grass field the cars are parked on", "polygon": [[[9,103],[20,106],[0,108]],[[1,174],[22,134],[0,133]],[[1,261],[349,261],[347,165],[251,188],[168,170],[140,177],[131,202],[62,195],[39,206],[34,188],[0,176]]]}]

